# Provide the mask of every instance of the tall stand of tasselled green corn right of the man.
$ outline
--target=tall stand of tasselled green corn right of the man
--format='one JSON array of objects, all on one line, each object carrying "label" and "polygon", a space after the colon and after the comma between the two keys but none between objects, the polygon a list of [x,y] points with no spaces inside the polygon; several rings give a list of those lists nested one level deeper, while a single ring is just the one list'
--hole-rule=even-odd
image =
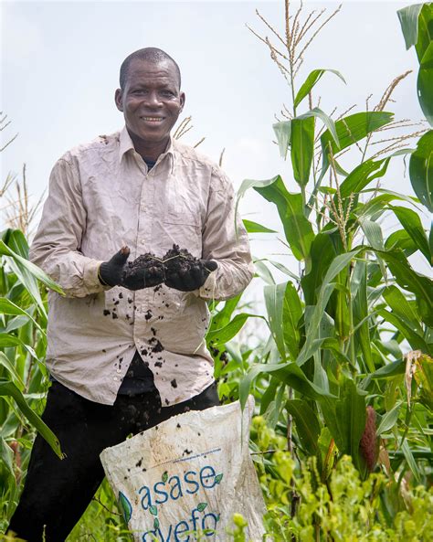
[{"label": "tall stand of tasselled green corn right of the man", "polygon": [[[415,133],[384,139],[387,130],[412,125],[385,111],[407,73],[372,109],[334,120],[314,107],[313,90],[326,71],[343,76],[313,69],[298,84],[299,69],[312,39],[339,9],[325,20],[324,10],[302,19],[302,5],[291,13],[286,0],[282,34],[258,13],[277,45],[253,30],[290,87],[291,110],[284,106],[284,118],[273,126],[291,165],[290,189],[280,175],[246,180],[238,199],[253,188],[275,205],[300,271],[278,264],[288,276],[278,284],[269,270],[264,275],[269,341],[250,357],[239,398],[245,404],[254,383],[270,426],[283,424],[293,457],[316,458],[323,482],[344,454],[362,478],[379,461],[399,483],[407,472],[425,482],[433,461],[433,284],[408,258],[417,252],[432,262],[432,236],[419,218],[423,206],[431,210],[431,130],[422,124]],[[399,16],[407,43],[416,44],[418,95],[431,123],[433,5]],[[407,148],[420,135],[417,148]],[[382,143],[380,151],[372,150],[374,143]],[[347,152],[349,165],[342,158]],[[380,185],[398,154],[411,156],[417,197]],[[401,228],[386,236],[381,221],[387,216]],[[254,225],[255,231],[258,226],[266,231]],[[384,507],[394,514],[392,505]]]}]

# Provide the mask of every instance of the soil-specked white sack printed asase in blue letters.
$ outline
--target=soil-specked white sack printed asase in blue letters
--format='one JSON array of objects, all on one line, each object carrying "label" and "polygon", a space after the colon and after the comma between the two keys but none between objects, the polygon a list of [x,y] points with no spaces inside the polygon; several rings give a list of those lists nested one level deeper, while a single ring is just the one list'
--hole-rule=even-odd
[{"label": "soil-specked white sack printed asase in blue letters", "polygon": [[238,401],[191,410],[100,454],[134,540],[228,541],[235,512],[248,521],[247,539],[262,540],[265,505],[248,451],[253,408],[249,397],[243,414]]}]

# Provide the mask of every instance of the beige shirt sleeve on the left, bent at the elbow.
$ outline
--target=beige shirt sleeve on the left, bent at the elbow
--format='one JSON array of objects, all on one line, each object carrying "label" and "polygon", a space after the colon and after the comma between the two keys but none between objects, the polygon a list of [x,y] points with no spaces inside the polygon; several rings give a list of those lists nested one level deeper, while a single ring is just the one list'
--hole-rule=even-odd
[{"label": "beige shirt sleeve on the left, bent at the elbow", "polygon": [[80,252],[86,219],[79,168],[73,157],[65,155],[51,172],[48,198],[29,259],[58,282],[68,297],[107,290],[98,279],[100,260]]}]

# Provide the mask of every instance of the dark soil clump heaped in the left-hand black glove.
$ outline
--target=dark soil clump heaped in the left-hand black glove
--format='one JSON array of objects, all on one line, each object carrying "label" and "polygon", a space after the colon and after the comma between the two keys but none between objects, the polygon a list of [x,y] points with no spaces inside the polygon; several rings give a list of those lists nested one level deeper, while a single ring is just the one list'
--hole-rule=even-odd
[{"label": "dark soil clump heaped in the left-hand black glove", "polygon": [[125,265],[122,282],[130,290],[150,288],[164,282],[164,264],[154,254],[147,252]]}]

